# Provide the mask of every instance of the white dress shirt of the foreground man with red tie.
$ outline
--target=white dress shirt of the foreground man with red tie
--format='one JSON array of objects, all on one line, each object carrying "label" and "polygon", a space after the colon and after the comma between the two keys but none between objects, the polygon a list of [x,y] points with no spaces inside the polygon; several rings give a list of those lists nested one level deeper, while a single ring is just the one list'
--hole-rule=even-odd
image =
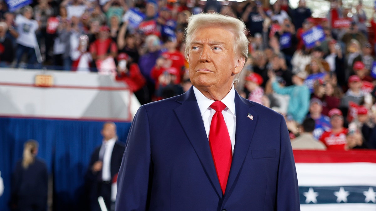
[{"label": "white dress shirt of the foreground man with red tie", "polygon": [[[202,121],[204,122],[206,136],[209,140],[209,130],[211,119],[215,113],[215,110],[210,107],[214,100],[206,98],[196,87],[193,87],[194,95],[197,99],[197,104],[201,112]],[[232,86],[231,90],[227,95],[221,100],[226,108],[222,111],[224,122],[226,122],[227,130],[229,131],[232,154],[234,153],[235,146],[235,89]]]}]

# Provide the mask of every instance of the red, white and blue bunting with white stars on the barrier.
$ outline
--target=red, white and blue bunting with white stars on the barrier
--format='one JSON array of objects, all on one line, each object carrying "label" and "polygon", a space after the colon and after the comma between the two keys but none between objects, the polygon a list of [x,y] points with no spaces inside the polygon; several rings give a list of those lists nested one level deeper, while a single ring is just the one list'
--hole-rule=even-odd
[{"label": "red, white and blue bunting with white stars on the barrier", "polygon": [[375,211],[376,152],[294,151],[302,211]]}]

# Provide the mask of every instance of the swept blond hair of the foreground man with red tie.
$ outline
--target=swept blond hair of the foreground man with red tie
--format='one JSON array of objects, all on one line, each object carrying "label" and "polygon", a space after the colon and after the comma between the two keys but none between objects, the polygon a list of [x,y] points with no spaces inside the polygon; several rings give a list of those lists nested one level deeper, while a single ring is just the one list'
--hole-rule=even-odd
[{"label": "swept blond hair of the foreground man with red tie", "polygon": [[189,53],[189,46],[192,41],[192,35],[201,27],[208,26],[225,26],[229,27],[230,31],[235,35],[234,52],[236,56],[248,58],[248,39],[247,29],[243,21],[230,17],[228,15],[221,15],[218,13],[200,13],[192,15],[188,18],[188,26],[185,29],[186,48],[184,56],[187,58]]}]

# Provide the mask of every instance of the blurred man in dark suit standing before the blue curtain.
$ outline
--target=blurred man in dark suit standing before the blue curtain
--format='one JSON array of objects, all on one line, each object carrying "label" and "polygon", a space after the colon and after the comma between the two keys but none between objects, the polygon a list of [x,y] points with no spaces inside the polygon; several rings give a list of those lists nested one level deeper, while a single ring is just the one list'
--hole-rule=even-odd
[{"label": "blurred man in dark suit standing before the blue curtain", "polygon": [[103,142],[91,155],[86,177],[89,181],[90,210],[100,211],[98,197],[102,196],[108,210],[111,208],[111,184],[117,175],[124,154],[124,144],[117,140],[116,125],[106,122],[101,134]]}]

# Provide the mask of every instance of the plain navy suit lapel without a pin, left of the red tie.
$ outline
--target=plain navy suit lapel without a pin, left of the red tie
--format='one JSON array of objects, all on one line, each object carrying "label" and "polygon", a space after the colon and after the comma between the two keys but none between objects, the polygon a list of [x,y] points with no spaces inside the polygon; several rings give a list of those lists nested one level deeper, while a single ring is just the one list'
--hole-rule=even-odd
[{"label": "plain navy suit lapel without a pin, left of the red tie", "polygon": [[174,112],[176,113],[188,140],[193,146],[197,157],[199,157],[206,175],[208,175],[211,184],[217,191],[218,197],[221,197],[221,186],[218,182],[217,172],[215,171],[214,161],[210,151],[209,140],[206,137],[205,127],[193,92],[193,86],[186,93],[180,95],[176,101],[182,104],[179,107],[176,107]]}]

